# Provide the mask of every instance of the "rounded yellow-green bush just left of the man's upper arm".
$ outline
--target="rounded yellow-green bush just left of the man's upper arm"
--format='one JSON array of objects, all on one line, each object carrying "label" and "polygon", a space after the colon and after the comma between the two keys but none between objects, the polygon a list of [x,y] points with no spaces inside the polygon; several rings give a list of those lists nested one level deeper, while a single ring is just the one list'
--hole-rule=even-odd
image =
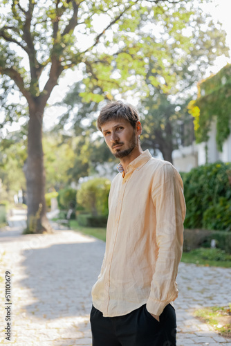
[{"label": "rounded yellow-green bush just left of the man's upper arm", "polygon": [[105,178],[95,178],[82,183],[77,190],[77,204],[93,216],[107,216],[110,186],[111,182]]}]

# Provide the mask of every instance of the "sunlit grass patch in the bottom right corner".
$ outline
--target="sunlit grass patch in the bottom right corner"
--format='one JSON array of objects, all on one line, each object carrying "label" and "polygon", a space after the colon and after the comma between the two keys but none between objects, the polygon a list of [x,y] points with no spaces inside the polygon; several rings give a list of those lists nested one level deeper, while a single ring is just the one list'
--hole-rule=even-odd
[{"label": "sunlit grass patch in the bottom right corner", "polygon": [[224,337],[231,338],[231,303],[228,307],[205,307],[194,311],[194,316],[209,324]]}]

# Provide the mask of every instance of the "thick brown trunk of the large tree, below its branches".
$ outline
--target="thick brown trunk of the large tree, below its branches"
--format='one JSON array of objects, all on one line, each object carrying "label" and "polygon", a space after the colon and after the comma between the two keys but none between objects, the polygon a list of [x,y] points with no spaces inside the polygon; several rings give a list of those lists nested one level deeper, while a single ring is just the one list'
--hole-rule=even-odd
[{"label": "thick brown trunk of the large tree, below its branches", "polygon": [[27,232],[52,233],[46,217],[44,152],[42,148],[42,121],[44,109],[29,107],[28,158],[25,175],[27,188]]}]

